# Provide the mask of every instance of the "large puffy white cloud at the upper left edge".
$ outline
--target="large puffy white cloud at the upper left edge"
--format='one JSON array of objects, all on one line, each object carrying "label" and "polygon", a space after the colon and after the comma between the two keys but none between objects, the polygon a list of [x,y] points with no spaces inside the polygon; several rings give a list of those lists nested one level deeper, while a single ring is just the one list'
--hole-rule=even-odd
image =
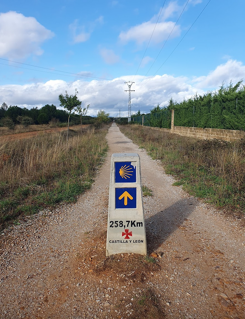
[{"label": "large puffy white cloud at the upper left edge", "polygon": [[30,54],[40,56],[40,45],[54,33],[42,26],[35,18],[9,11],[0,13],[0,56],[22,59]]}]

